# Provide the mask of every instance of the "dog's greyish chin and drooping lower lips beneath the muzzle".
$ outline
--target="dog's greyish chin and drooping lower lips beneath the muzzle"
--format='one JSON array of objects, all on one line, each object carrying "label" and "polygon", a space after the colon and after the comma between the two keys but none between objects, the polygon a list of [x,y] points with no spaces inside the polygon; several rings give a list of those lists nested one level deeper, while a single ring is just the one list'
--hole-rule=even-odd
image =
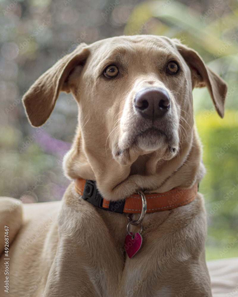
[{"label": "dog's greyish chin and drooping lower lips beneath the muzzle", "polygon": [[168,137],[160,130],[148,129],[123,142],[123,145],[119,142],[113,156],[118,163],[129,165],[139,155],[156,152],[157,159],[170,160],[177,155],[178,151],[179,140],[176,135]]}]

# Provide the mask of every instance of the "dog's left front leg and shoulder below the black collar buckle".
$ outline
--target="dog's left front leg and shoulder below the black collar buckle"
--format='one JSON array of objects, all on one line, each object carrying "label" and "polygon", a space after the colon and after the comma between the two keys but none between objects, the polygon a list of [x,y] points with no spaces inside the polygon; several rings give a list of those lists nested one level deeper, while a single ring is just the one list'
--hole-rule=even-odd
[{"label": "dog's left front leg and shoulder below the black collar buckle", "polygon": [[44,297],[109,297],[120,278],[122,256],[95,208],[66,191],[58,216],[59,243]]}]

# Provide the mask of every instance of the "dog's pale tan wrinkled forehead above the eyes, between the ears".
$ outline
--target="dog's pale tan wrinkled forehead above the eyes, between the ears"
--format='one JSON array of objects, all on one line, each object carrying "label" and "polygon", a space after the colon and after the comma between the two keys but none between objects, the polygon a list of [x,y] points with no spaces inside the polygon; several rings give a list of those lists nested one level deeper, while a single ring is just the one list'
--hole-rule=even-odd
[{"label": "dog's pale tan wrinkled forehead above the eyes, between the ears", "polygon": [[92,63],[101,64],[125,61],[144,61],[147,57],[179,59],[173,40],[166,37],[140,35],[121,36],[100,40],[91,45]]}]

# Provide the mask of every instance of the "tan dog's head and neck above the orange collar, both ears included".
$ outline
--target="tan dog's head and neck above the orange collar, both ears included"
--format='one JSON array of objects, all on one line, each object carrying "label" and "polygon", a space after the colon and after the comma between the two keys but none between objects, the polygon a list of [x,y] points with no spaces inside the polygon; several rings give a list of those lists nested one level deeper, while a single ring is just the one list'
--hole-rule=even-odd
[{"label": "tan dog's head and neck above the orange collar, both ears included", "polygon": [[[206,86],[223,117],[226,83],[178,40],[141,35],[81,44],[25,94],[29,121],[41,126],[60,91],[79,105],[79,128],[64,168],[97,181],[104,197],[190,187],[202,176],[192,89]],[[186,181],[186,182],[185,182]]]}]

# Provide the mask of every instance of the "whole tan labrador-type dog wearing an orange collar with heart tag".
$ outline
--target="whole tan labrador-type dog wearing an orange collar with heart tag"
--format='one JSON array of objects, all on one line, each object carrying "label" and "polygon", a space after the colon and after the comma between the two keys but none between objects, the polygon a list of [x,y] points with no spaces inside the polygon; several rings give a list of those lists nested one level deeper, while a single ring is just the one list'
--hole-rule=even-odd
[{"label": "whole tan labrador-type dog wearing an orange collar with heart tag", "polygon": [[150,35],[81,44],[33,84],[35,127],[61,91],[78,103],[72,182],[60,202],[1,198],[1,296],[212,296],[192,109],[204,86],[223,117],[226,83],[179,40]]}]

